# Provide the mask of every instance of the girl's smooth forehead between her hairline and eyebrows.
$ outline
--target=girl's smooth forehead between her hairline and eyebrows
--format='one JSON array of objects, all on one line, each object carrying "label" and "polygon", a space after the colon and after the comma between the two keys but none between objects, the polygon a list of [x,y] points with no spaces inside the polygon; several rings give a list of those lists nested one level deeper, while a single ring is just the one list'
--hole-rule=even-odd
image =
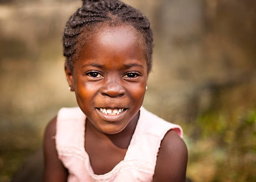
[{"label": "girl's smooth forehead between her hairline and eyebrows", "polygon": [[129,26],[102,27],[91,36],[79,60],[132,59],[146,62],[140,33]]}]

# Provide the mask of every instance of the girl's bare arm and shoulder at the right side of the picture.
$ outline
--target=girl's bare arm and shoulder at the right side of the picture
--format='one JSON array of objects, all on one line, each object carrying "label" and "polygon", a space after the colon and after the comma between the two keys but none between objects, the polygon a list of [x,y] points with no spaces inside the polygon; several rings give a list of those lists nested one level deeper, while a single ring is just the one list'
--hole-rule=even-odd
[{"label": "girl's bare arm and shoulder at the right side of the picture", "polygon": [[174,130],[169,130],[161,142],[153,182],[185,182],[187,147]]}]

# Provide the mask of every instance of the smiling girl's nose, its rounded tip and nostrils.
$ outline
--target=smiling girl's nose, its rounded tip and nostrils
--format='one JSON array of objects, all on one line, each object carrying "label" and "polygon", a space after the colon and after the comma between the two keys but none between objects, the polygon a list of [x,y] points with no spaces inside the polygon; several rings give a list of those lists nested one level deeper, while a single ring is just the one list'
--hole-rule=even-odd
[{"label": "smiling girl's nose, its rounded tip and nostrils", "polygon": [[112,82],[102,87],[101,94],[108,97],[120,97],[125,94],[125,89],[118,83]]}]

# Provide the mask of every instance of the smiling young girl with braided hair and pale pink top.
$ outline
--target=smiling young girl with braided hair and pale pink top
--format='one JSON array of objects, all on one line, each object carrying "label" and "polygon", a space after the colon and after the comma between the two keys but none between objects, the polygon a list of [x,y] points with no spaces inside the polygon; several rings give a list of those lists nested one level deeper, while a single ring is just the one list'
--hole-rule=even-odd
[{"label": "smiling young girl with braided hair and pale pink top", "polygon": [[70,17],[65,72],[79,107],[46,128],[45,182],[185,181],[181,127],[141,106],[152,40],[147,18],[118,0],[84,0]]}]

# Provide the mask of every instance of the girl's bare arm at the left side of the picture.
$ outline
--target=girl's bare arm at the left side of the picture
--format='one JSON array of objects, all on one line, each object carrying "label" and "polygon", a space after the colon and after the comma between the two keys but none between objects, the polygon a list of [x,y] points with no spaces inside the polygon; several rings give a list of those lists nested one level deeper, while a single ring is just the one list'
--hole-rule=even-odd
[{"label": "girl's bare arm at the left side of the picture", "polygon": [[68,171],[58,158],[55,135],[56,117],[49,122],[44,135],[44,182],[67,182]]}]

